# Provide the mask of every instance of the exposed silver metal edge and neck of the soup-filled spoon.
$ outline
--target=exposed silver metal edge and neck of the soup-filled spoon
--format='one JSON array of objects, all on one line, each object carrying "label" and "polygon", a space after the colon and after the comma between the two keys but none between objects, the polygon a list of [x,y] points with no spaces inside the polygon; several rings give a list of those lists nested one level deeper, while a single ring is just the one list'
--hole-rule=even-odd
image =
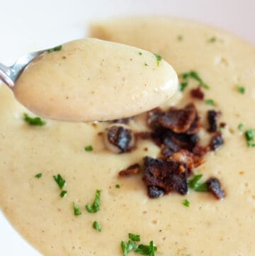
[{"label": "exposed silver metal edge and neck of the soup-filled spoon", "polygon": [[[47,49],[50,50],[50,49]],[[33,60],[35,57],[38,57],[43,52],[47,50],[38,50],[37,52],[30,52],[27,55],[20,57],[11,67],[6,67],[6,65],[0,63],[0,79],[8,85],[11,89],[14,87],[14,84],[20,74],[23,72],[23,69]]]}]

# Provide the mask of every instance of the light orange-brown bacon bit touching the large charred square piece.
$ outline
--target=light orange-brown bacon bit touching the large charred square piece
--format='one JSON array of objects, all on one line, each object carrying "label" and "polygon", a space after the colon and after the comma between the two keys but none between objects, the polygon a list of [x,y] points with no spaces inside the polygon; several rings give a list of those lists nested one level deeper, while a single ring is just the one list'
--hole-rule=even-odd
[{"label": "light orange-brown bacon bit touching the large charred square piece", "polygon": [[188,169],[193,169],[201,165],[204,160],[197,155],[189,152],[188,150],[179,150],[175,152],[168,160],[175,161],[175,162],[183,162],[186,164]]}]

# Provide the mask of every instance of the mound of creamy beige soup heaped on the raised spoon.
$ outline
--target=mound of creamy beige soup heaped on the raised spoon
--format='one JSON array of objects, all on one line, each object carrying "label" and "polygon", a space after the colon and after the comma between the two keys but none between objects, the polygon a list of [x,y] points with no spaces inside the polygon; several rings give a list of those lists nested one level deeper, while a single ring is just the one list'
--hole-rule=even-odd
[{"label": "mound of creamy beige soup heaped on the raised spoon", "polygon": [[107,121],[159,106],[173,96],[177,86],[176,72],[160,55],[86,38],[33,60],[13,92],[40,116]]}]

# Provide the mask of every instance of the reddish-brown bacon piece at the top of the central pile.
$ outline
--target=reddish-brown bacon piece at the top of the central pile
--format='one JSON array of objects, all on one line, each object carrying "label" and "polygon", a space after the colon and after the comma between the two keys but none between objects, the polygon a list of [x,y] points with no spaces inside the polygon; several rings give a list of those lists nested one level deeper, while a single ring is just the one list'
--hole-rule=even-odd
[{"label": "reddish-brown bacon piece at the top of the central pile", "polygon": [[186,133],[196,119],[197,114],[193,103],[181,109],[172,107],[159,117],[159,124],[175,133]]}]

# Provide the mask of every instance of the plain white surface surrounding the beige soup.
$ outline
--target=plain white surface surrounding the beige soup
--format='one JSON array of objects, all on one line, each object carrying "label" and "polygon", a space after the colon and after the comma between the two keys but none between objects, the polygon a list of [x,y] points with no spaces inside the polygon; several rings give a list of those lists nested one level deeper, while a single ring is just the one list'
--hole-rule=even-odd
[{"label": "plain white surface surrounding the beige soup", "polygon": [[[255,44],[255,0],[0,0],[0,3],[0,61],[6,65],[26,52],[81,38],[86,35],[88,21],[112,16],[163,14],[192,18],[224,28]],[[40,254],[13,230],[0,211],[0,256],[16,255]]]}]

